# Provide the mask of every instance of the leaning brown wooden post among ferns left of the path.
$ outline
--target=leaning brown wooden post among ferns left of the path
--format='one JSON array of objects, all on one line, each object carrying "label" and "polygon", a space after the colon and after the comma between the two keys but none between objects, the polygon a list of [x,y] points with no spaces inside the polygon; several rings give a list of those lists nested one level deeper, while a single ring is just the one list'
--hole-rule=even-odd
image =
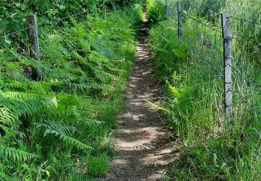
[{"label": "leaning brown wooden post among ferns left of the path", "polygon": [[[41,61],[36,15],[27,15],[26,22],[29,30],[29,42],[31,44],[31,58],[35,59],[35,61]],[[43,79],[42,68],[38,68],[38,70],[36,70],[36,73],[37,80],[41,81]]]}]

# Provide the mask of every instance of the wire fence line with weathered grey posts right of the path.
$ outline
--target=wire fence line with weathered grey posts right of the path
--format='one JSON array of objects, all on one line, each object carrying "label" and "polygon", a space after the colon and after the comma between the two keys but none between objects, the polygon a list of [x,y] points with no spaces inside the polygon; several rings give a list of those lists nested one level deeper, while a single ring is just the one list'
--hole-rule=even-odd
[{"label": "wire fence line with weathered grey posts right of the path", "polygon": [[[188,28],[186,26],[187,19],[191,19],[198,24],[198,31],[200,31],[202,36],[198,38],[198,41],[204,46],[200,45],[200,47],[196,47],[196,49],[204,54],[203,56],[205,56],[207,66],[211,67],[215,73],[219,74],[223,72],[225,118],[230,121],[233,120],[235,116],[242,116],[248,111],[255,120],[260,120],[261,104],[258,100],[261,100],[261,43],[258,42],[258,40],[253,40],[253,38],[248,38],[241,33],[235,32],[233,27],[230,26],[230,22],[235,19],[258,27],[260,27],[261,24],[251,22],[248,19],[233,17],[228,13],[222,13],[221,17],[223,17],[220,19],[217,16],[219,13],[212,10],[209,10],[209,12],[216,16],[212,19],[214,23],[204,22],[202,19],[190,15],[189,11],[183,11],[181,3],[177,3],[176,11],[173,2],[166,1],[166,3],[169,4],[168,6],[165,5],[165,8],[171,9],[165,10],[165,13],[168,12],[166,16],[178,22],[177,36],[188,42],[190,46],[191,44],[197,45],[198,42],[189,42],[189,35],[186,34],[185,30]],[[216,20],[219,22],[216,22]],[[223,21],[223,26],[218,25],[221,24],[221,21]],[[189,26],[191,26],[191,24],[189,24]],[[192,29],[195,28],[196,26]],[[223,37],[221,37],[222,35]],[[220,38],[219,40],[222,40],[222,43],[216,42],[216,38]],[[215,47],[212,46],[213,43]],[[221,47],[223,47],[222,51]],[[221,61],[215,61],[216,57],[223,57],[223,65]],[[214,58],[214,61],[212,58]],[[218,65],[218,67],[216,67],[216,65]],[[232,84],[232,81],[234,84]],[[233,107],[233,109],[232,102],[235,105],[238,104]],[[239,108],[239,104],[243,105],[244,110]]]}]

